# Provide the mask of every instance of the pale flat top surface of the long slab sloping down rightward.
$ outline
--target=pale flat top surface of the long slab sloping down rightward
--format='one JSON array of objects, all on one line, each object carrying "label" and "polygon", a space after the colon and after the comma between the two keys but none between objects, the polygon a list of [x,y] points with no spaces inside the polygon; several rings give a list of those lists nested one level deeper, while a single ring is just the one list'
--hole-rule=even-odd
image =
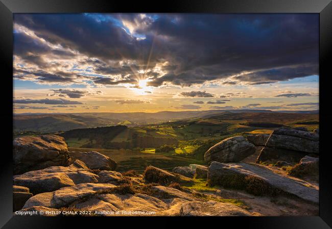
[{"label": "pale flat top surface of the long slab sloping down rightward", "polygon": [[260,181],[266,182],[272,188],[296,195],[304,200],[309,200],[315,203],[319,202],[319,190],[304,186],[297,180],[276,174],[260,165],[212,162],[208,169],[208,180],[211,181],[218,181],[218,179],[228,179],[232,181],[232,179],[235,179],[236,176],[253,176]]}]

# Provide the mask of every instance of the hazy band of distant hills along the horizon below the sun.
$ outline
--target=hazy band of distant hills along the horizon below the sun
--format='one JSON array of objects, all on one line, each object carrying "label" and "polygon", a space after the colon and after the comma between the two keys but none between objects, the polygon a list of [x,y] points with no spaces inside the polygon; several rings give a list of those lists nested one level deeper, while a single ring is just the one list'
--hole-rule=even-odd
[{"label": "hazy band of distant hills along the horizon below the sun", "polygon": [[[317,113],[318,111],[282,111],[282,113]],[[75,113],[75,114],[15,114],[14,131],[57,132],[111,125],[139,126],[192,118],[209,118],[223,114],[272,113],[269,110],[208,110],[161,111],[156,113]],[[276,115],[277,116],[277,115]]]}]

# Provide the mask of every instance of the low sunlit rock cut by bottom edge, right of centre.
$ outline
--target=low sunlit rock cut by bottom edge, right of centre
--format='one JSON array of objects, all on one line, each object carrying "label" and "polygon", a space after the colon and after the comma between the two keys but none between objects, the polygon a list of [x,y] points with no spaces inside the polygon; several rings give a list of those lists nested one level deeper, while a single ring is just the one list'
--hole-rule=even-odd
[{"label": "low sunlit rock cut by bottom edge, right of centre", "polygon": [[252,214],[231,203],[191,201],[184,203],[180,216],[251,216]]}]

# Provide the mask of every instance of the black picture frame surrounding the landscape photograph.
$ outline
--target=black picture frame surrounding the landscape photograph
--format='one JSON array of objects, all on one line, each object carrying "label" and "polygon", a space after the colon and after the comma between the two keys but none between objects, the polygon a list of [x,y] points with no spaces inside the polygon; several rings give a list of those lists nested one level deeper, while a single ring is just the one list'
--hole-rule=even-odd
[{"label": "black picture frame surrounding the landscape photograph", "polygon": [[[216,225],[245,228],[330,228],[332,226],[332,182],[330,179],[330,147],[328,134],[331,129],[332,112],[330,104],[330,81],[332,77],[332,3],[331,0],[227,0],[198,1],[171,0],[167,2],[125,2],[100,0],[0,0],[0,64],[2,75],[2,154],[0,159],[0,226],[3,228],[63,228],[67,221],[94,223],[94,226],[114,226],[115,221],[129,222],[128,217],[38,217],[13,216],[12,214],[12,140],[9,134],[13,120],[13,13],[80,13],[80,12],[184,12],[184,13],[318,13],[320,16],[320,55],[319,55],[319,100],[320,100],[320,211],[319,216],[299,217],[182,217],[186,226]],[[145,220],[145,223],[139,221]],[[149,219],[147,219],[149,218]],[[151,224],[160,217],[130,217],[136,226]],[[96,220],[98,220],[96,222]],[[112,221],[111,221],[112,220]],[[152,221],[151,221],[152,220]],[[161,225],[178,225],[178,217],[162,218]],[[103,221],[103,222],[102,222]],[[106,222],[107,221],[107,222]],[[65,224],[64,224],[65,223]],[[98,224],[96,224],[98,223]],[[109,224],[109,223],[112,223]],[[160,222],[158,222],[160,223]]]}]

